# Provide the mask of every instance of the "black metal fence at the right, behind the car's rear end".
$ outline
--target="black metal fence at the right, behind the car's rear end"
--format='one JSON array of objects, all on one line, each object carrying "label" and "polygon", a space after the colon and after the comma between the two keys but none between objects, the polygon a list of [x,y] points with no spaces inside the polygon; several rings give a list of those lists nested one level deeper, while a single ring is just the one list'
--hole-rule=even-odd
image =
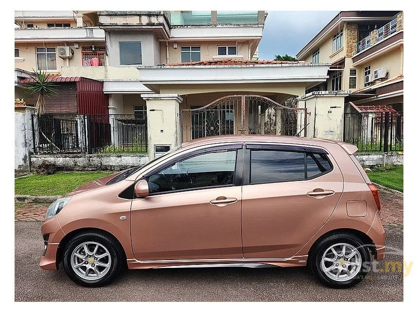
[{"label": "black metal fence at the right, behind the car's rear end", "polygon": [[403,112],[346,113],[344,141],[360,152],[403,151]]}]

